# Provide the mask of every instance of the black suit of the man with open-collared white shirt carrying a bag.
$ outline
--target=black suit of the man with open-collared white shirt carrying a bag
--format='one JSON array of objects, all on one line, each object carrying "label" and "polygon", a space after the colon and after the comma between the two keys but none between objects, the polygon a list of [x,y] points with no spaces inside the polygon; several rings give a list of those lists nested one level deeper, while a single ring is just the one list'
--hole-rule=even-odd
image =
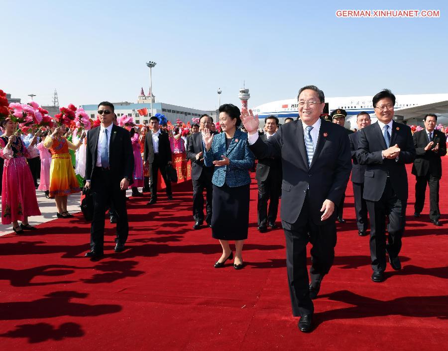
[{"label": "black suit of the man with open-collared white shirt carrying a bag", "polygon": [[159,134],[159,152],[154,153],[154,146],[152,144],[152,131],[146,133],[145,149],[143,153],[143,160],[149,162],[149,189],[151,191],[151,200],[157,200],[157,172],[160,169],[160,174],[166,184],[166,195],[172,196],[171,182],[166,178],[166,166],[171,161],[171,146],[168,134],[160,131]]}]

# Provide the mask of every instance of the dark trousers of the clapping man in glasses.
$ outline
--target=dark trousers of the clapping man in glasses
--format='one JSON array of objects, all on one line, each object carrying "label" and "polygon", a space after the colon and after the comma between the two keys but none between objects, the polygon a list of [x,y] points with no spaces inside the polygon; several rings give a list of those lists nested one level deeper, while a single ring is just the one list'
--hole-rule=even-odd
[{"label": "dark trousers of the clapping man in glasses", "polygon": [[[401,237],[406,224],[406,201],[397,198],[389,178],[379,201],[366,201],[370,217],[370,257],[374,272],[386,269],[386,251],[389,257],[397,257],[401,250]],[[388,240],[386,244],[386,216]]]}]

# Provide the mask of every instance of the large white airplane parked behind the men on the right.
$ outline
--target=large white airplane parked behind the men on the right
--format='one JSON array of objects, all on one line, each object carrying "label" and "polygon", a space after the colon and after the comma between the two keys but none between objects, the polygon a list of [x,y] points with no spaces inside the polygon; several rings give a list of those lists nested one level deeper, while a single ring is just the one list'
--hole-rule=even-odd
[{"label": "large white airplane parked behind the men on the right", "polygon": [[[448,94],[418,94],[396,95],[394,106],[394,119],[408,125],[423,125],[423,117],[426,114],[436,114],[437,123],[448,124]],[[326,98],[324,113],[330,114],[337,109],[347,112],[345,127],[356,128],[356,115],[361,111],[367,112],[372,123],[376,122],[375,112],[372,106],[372,96],[355,96],[341,98]],[[254,115],[258,114],[260,124],[264,124],[264,118],[274,115],[280,123],[284,123],[286,117],[296,119],[299,116],[297,99],[279,100],[263,104],[252,109]]]}]

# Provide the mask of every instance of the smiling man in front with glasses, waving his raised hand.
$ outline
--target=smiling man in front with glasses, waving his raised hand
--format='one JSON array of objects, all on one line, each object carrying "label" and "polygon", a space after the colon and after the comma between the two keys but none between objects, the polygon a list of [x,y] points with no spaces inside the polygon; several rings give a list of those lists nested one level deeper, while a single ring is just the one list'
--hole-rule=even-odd
[{"label": "smiling man in front with glasses, waving his raised hand", "polygon": [[[258,158],[280,157],[283,168],[281,219],[286,237],[286,265],[292,311],[299,330],[312,330],[313,298],[335,257],[336,213],[351,171],[347,132],[324,122],[324,92],[316,86],[300,89],[300,119],[282,125],[267,141],[258,137],[258,117],[242,111],[249,145]],[[311,241],[311,284],[307,243]]]}]

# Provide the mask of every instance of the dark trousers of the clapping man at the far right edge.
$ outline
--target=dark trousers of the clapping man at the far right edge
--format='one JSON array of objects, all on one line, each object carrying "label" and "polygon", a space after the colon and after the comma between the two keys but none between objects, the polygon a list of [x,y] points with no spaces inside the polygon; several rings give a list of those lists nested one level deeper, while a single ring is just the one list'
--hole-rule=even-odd
[{"label": "dark trousers of the clapping man at the far right edge", "polygon": [[420,213],[425,205],[426,184],[430,186],[430,220],[439,220],[439,180],[431,174],[422,177],[415,177],[415,205],[414,212]]}]

